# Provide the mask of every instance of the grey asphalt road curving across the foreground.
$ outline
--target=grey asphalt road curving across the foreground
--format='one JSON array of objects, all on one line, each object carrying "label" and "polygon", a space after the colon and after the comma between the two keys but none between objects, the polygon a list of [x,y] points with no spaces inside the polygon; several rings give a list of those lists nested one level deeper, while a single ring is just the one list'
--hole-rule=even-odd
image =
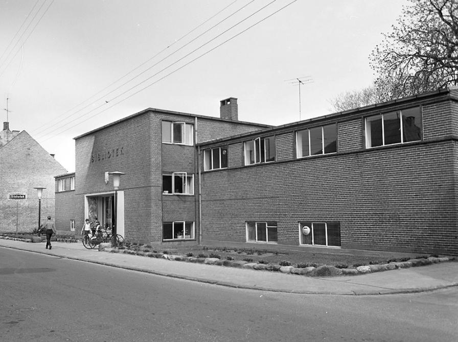
[{"label": "grey asphalt road curving across the foreground", "polygon": [[456,341],[458,289],[330,296],[227,288],[0,248],[5,341]]}]

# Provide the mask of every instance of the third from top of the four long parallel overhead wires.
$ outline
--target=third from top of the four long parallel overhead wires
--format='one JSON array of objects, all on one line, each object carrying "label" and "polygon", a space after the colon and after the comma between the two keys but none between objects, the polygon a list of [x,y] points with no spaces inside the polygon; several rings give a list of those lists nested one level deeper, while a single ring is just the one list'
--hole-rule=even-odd
[{"label": "third from top of the four long parallel overhead wires", "polygon": [[[254,0],[252,0],[250,3],[252,3],[253,1],[254,1]],[[203,46],[209,44],[210,42],[212,42],[212,41],[215,40],[216,38],[222,36],[222,35],[225,34],[227,31],[232,30],[234,27],[240,25],[240,23],[242,23],[243,21],[247,20],[248,18],[250,18],[251,16],[255,15],[256,13],[259,13],[260,11],[262,11],[263,9],[265,9],[265,8],[268,7],[268,6],[270,6],[271,4],[273,4],[273,3],[276,2],[276,1],[277,1],[277,0],[272,0],[269,4],[263,6],[262,8],[260,8],[260,9],[257,10],[257,11],[255,11],[254,13],[251,13],[249,16],[247,16],[247,17],[244,18],[243,20],[239,21],[238,23],[236,23],[236,24],[233,25],[232,27],[228,28],[227,30],[225,30],[225,31],[223,31],[222,33],[220,33],[219,35],[217,35],[217,36],[213,37],[212,39],[208,40],[207,42],[205,42],[204,44],[200,45],[199,47],[195,48],[193,51],[191,51],[191,52],[188,53],[187,55],[185,55],[185,56],[179,58],[178,60],[176,60],[175,62],[169,64],[169,65],[166,66],[165,68],[163,68],[163,69],[157,71],[154,75],[152,75],[152,76],[146,78],[145,80],[143,80],[142,82],[140,82],[140,83],[138,83],[138,84],[136,84],[136,85],[130,87],[129,89],[127,89],[127,90],[125,90],[124,92],[118,94],[117,96],[114,96],[114,97],[113,97],[112,99],[110,99],[109,101],[106,101],[106,100],[105,100],[105,102],[103,102],[103,103],[102,103],[101,105],[99,105],[98,107],[91,109],[89,112],[86,112],[85,114],[83,114],[83,115],[80,116],[80,117],[77,117],[77,118],[75,118],[75,119],[73,119],[73,120],[71,120],[71,121],[68,121],[67,123],[65,123],[65,124],[63,124],[63,125],[61,125],[61,126],[59,126],[59,128],[64,127],[64,126],[66,126],[66,125],[68,125],[68,124],[73,123],[74,121],[80,119],[81,117],[84,117],[85,115],[90,114],[91,112],[93,112],[93,111],[95,111],[95,110],[101,108],[102,106],[105,106],[107,103],[109,103],[109,102],[111,102],[111,101],[113,101],[113,100],[116,100],[118,97],[124,95],[124,94],[127,93],[128,91],[130,91],[130,90],[132,90],[132,89],[134,89],[134,88],[140,86],[141,84],[143,84],[143,83],[145,83],[146,81],[150,80],[151,78],[157,76],[158,74],[160,74],[160,73],[163,72],[164,70],[168,69],[169,67],[173,66],[174,64],[178,63],[179,61],[181,61],[181,60],[185,59],[186,57],[188,57],[189,55],[193,54],[194,52],[196,52],[197,50],[199,50],[199,49],[202,48]],[[249,3],[249,4],[250,4],[250,3]],[[245,6],[244,6],[244,7],[245,7]],[[219,23],[221,23],[221,22],[223,22],[224,20],[226,20],[227,18],[231,17],[232,15],[234,15],[235,13],[237,13],[238,11],[240,11],[241,9],[243,9],[244,7],[240,8],[239,10],[235,11],[235,12],[232,13],[231,15],[227,16],[226,18],[224,18],[223,20],[221,20]],[[204,33],[207,33],[208,31],[210,31],[210,30],[213,29],[215,26],[219,25],[219,23],[217,23],[216,25],[214,25],[212,28],[208,29],[208,30],[205,31]],[[198,37],[202,36],[204,33],[202,33],[202,34],[199,35]],[[198,38],[198,37],[197,37],[197,38]],[[194,40],[197,39],[197,38],[194,38],[193,40],[191,40],[191,42],[194,41]],[[189,43],[190,43],[190,42],[188,42],[186,45],[188,45]],[[186,45],[185,45],[185,46],[186,46]],[[182,47],[184,47],[184,46],[182,46]],[[182,48],[182,47],[181,47],[181,48]],[[174,53],[176,53],[177,51],[179,51],[181,48],[179,48],[179,49],[176,50],[175,52],[169,54],[168,56],[166,56],[165,58],[163,58],[163,59],[162,59],[161,61],[159,61],[159,62],[162,62],[162,61],[164,61],[166,58],[172,56]],[[157,65],[159,62],[155,63],[153,66]],[[151,69],[153,66],[149,67],[147,70]],[[145,71],[146,71],[146,70],[145,70]],[[142,74],[143,74],[143,72],[142,72]],[[131,80],[132,80],[132,79],[131,79]],[[126,82],[126,83],[127,83],[127,82]],[[125,85],[126,83],[124,83],[123,85]],[[117,90],[117,89],[119,89],[119,88],[120,88],[120,87],[116,88],[115,90]],[[114,90],[113,90],[113,91],[114,91]],[[111,91],[111,92],[113,92],[113,91]],[[109,93],[111,93],[111,92],[109,92]],[[109,93],[108,93],[108,94],[109,94]],[[101,100],[102,98],[103,98],[103,97],[100,97],[98,100]],[[98,100],[97,100],[97,101],[98,101]],[[93,104],[93,103],[95,103],[95,102],[96,102],[96,101],[90,103],[89,105],[85,106],[84,108],[87,108],[88,106],[90,106],[91,104]],[[82,108],[82,109],[84,109],[84,108]],[[111,107],[109,107],[109,108],[111,108]],[[82,109],[78,110],[76,113],[78,113],[78,112],[81,111]],[[70,115],[70,116],[73,116],[73,115],[75,115],[76,113],[74,113],[74,114],[72,114],[72,115]],[[70,116],[68,116],[68,117],[70,117]],[[59,121],[59,122],[60,122],[60,121]],[[84,122],[84,121],[83,121],[83,122]],[[55,126],[55,125],[53,125],[53,126]],[[52,126],[51,126],[51,127],[52,127]],[[37,136],[39,137],[40,135],[42,135],[42,136],[48,135],[49,133],[44,133],[44,132],[46,132],[46,131],[48,131],[49,129],[51,129],[51,127],[49,127],[49,128],[47,128],[47,129],[41,131],[40,133],[37,134]]]}]

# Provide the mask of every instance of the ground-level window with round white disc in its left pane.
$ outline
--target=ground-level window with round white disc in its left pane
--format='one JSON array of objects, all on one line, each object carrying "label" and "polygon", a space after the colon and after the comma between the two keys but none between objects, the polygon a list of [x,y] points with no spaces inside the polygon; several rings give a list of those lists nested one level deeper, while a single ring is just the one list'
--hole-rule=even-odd
[{"label": "ground-level window with round white disc in its left pane", "polygon": [[300,222],[300,245],[340,246],[340,223]]}]

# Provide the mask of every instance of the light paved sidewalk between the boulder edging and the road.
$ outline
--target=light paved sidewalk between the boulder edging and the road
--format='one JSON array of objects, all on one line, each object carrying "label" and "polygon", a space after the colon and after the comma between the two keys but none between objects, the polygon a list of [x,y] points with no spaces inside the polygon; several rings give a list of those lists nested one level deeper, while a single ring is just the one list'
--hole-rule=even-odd
[{"label": "light paved sidewalk between the boulder edging and the road", "polygon": [[297,294],[381,295],[458,286],[458,262],[455,261],[357,276],[315,278],[99,252],[87,250],[81,243],[53,242],[53,249],[47,250],[45,243],[0,239],[0,247],[222,286]]}]

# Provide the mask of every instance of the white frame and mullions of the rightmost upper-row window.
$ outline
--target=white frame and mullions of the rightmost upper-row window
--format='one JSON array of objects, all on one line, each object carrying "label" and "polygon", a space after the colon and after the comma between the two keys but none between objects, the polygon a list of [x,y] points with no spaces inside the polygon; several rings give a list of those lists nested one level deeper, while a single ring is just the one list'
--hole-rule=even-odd
[{"label": "white frame and mullions of the rightmost upper-row window", "polygon": [[[410,140],[410,141],[404,141],[404,113],[412,109],[418,108],[418,116],[420,118],[420,126],[417,126],[419,128],[419,139],[418,140]],[[399,121],[399,130],[400,130],[400,141],[399,142],[393,142],[393,143],[385,143],[386,140],[386,135],[387,132],[385,131],[385,115],[399,115],[398,121]],[[371,118],[379,117],[381,120],[381,140],[382,143],[380,145],[376,146],[371,146],[372,145],[372,132],[370,131],[369,127],[369,122]],[[409,116],[405,116],[408,118]],[[368,115],[364,116],[364,138],[365,138],[365,148],[366,149],[375,149],[375,148],[380,148],[383,146],[393,146],[393,145],[399,145],[399,144],[406,144],[406,143],[411,143],[411,142],[418,142],[422,141],[423,139],[423,113],[422,113],[422,106],[415,106],[415,107],[408,107],[404,109],[399,109],[399,110],[391,110],[383,113],[378,113],[374,115]]]}]

